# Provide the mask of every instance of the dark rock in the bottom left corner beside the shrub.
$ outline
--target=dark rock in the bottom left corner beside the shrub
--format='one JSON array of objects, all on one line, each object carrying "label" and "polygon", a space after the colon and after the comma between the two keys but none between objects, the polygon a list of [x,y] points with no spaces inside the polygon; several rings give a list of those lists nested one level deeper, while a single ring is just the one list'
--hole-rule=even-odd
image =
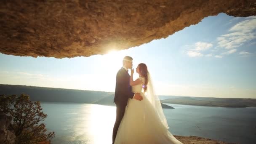
[{"label": "dark rock in the bottom left corner beside the shrub", "polygon": [[15,143],[15,134],[8,130],[11,120],[11,116],[7,116],[3,112],[0,112],[0,144]]}]

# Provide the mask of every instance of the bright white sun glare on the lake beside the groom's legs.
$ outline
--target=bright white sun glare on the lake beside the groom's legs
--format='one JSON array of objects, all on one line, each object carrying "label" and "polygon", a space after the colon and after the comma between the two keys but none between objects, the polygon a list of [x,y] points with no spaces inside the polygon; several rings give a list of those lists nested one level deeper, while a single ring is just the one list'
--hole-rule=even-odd
[{"label": "bright white sun glare on the lake beside the groom's legs", "polygon": [[115,107],[84,104],[77,110],[77,119],[73,120],[74,135],[69,137],[69,141],[83,144],[112,143]]}]

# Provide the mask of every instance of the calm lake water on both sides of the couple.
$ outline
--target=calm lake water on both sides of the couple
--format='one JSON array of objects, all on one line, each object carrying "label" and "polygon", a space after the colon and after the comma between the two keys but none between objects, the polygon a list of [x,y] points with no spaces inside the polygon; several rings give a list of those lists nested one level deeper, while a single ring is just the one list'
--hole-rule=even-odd
[{"label": "calm lake water on both sides of the couple", "polygon": [[[164,109],[173,135],[256,144],[256,107],[224,108],[168,104]],[[113,106],[41,102],[44,123],[54,131],[53,144],[111,144],[115,123]]]}]

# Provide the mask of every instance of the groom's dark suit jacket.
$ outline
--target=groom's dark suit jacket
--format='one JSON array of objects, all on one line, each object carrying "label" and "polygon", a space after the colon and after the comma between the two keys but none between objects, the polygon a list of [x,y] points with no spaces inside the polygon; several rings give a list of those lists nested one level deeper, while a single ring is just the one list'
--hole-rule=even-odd
[{"label": "groom's dark suit jacket", "polygon": [[117,72],[115,85],[114,103],[123,106],[127,105],[128,99],[133,98],[134,93],[131,92],[130,75],[123,67]]}]

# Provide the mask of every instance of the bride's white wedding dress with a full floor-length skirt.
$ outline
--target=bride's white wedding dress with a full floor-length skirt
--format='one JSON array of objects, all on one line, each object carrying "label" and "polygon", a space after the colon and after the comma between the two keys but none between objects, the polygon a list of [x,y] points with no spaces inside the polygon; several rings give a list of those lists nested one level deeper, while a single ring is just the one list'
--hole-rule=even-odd
[{"label": "bride's white wedding dress with a full floor-length skirt", "polygon": [[[143,77],[139,79],[144,83]],[[162,107],[160,109],[164,118],[161,119],[154,103],[141,92],[142,86],[143,84],[132,86],[133,93],[141,93],[143,100],[128,100],[115,144],[182,144],[168,131]]]}]

